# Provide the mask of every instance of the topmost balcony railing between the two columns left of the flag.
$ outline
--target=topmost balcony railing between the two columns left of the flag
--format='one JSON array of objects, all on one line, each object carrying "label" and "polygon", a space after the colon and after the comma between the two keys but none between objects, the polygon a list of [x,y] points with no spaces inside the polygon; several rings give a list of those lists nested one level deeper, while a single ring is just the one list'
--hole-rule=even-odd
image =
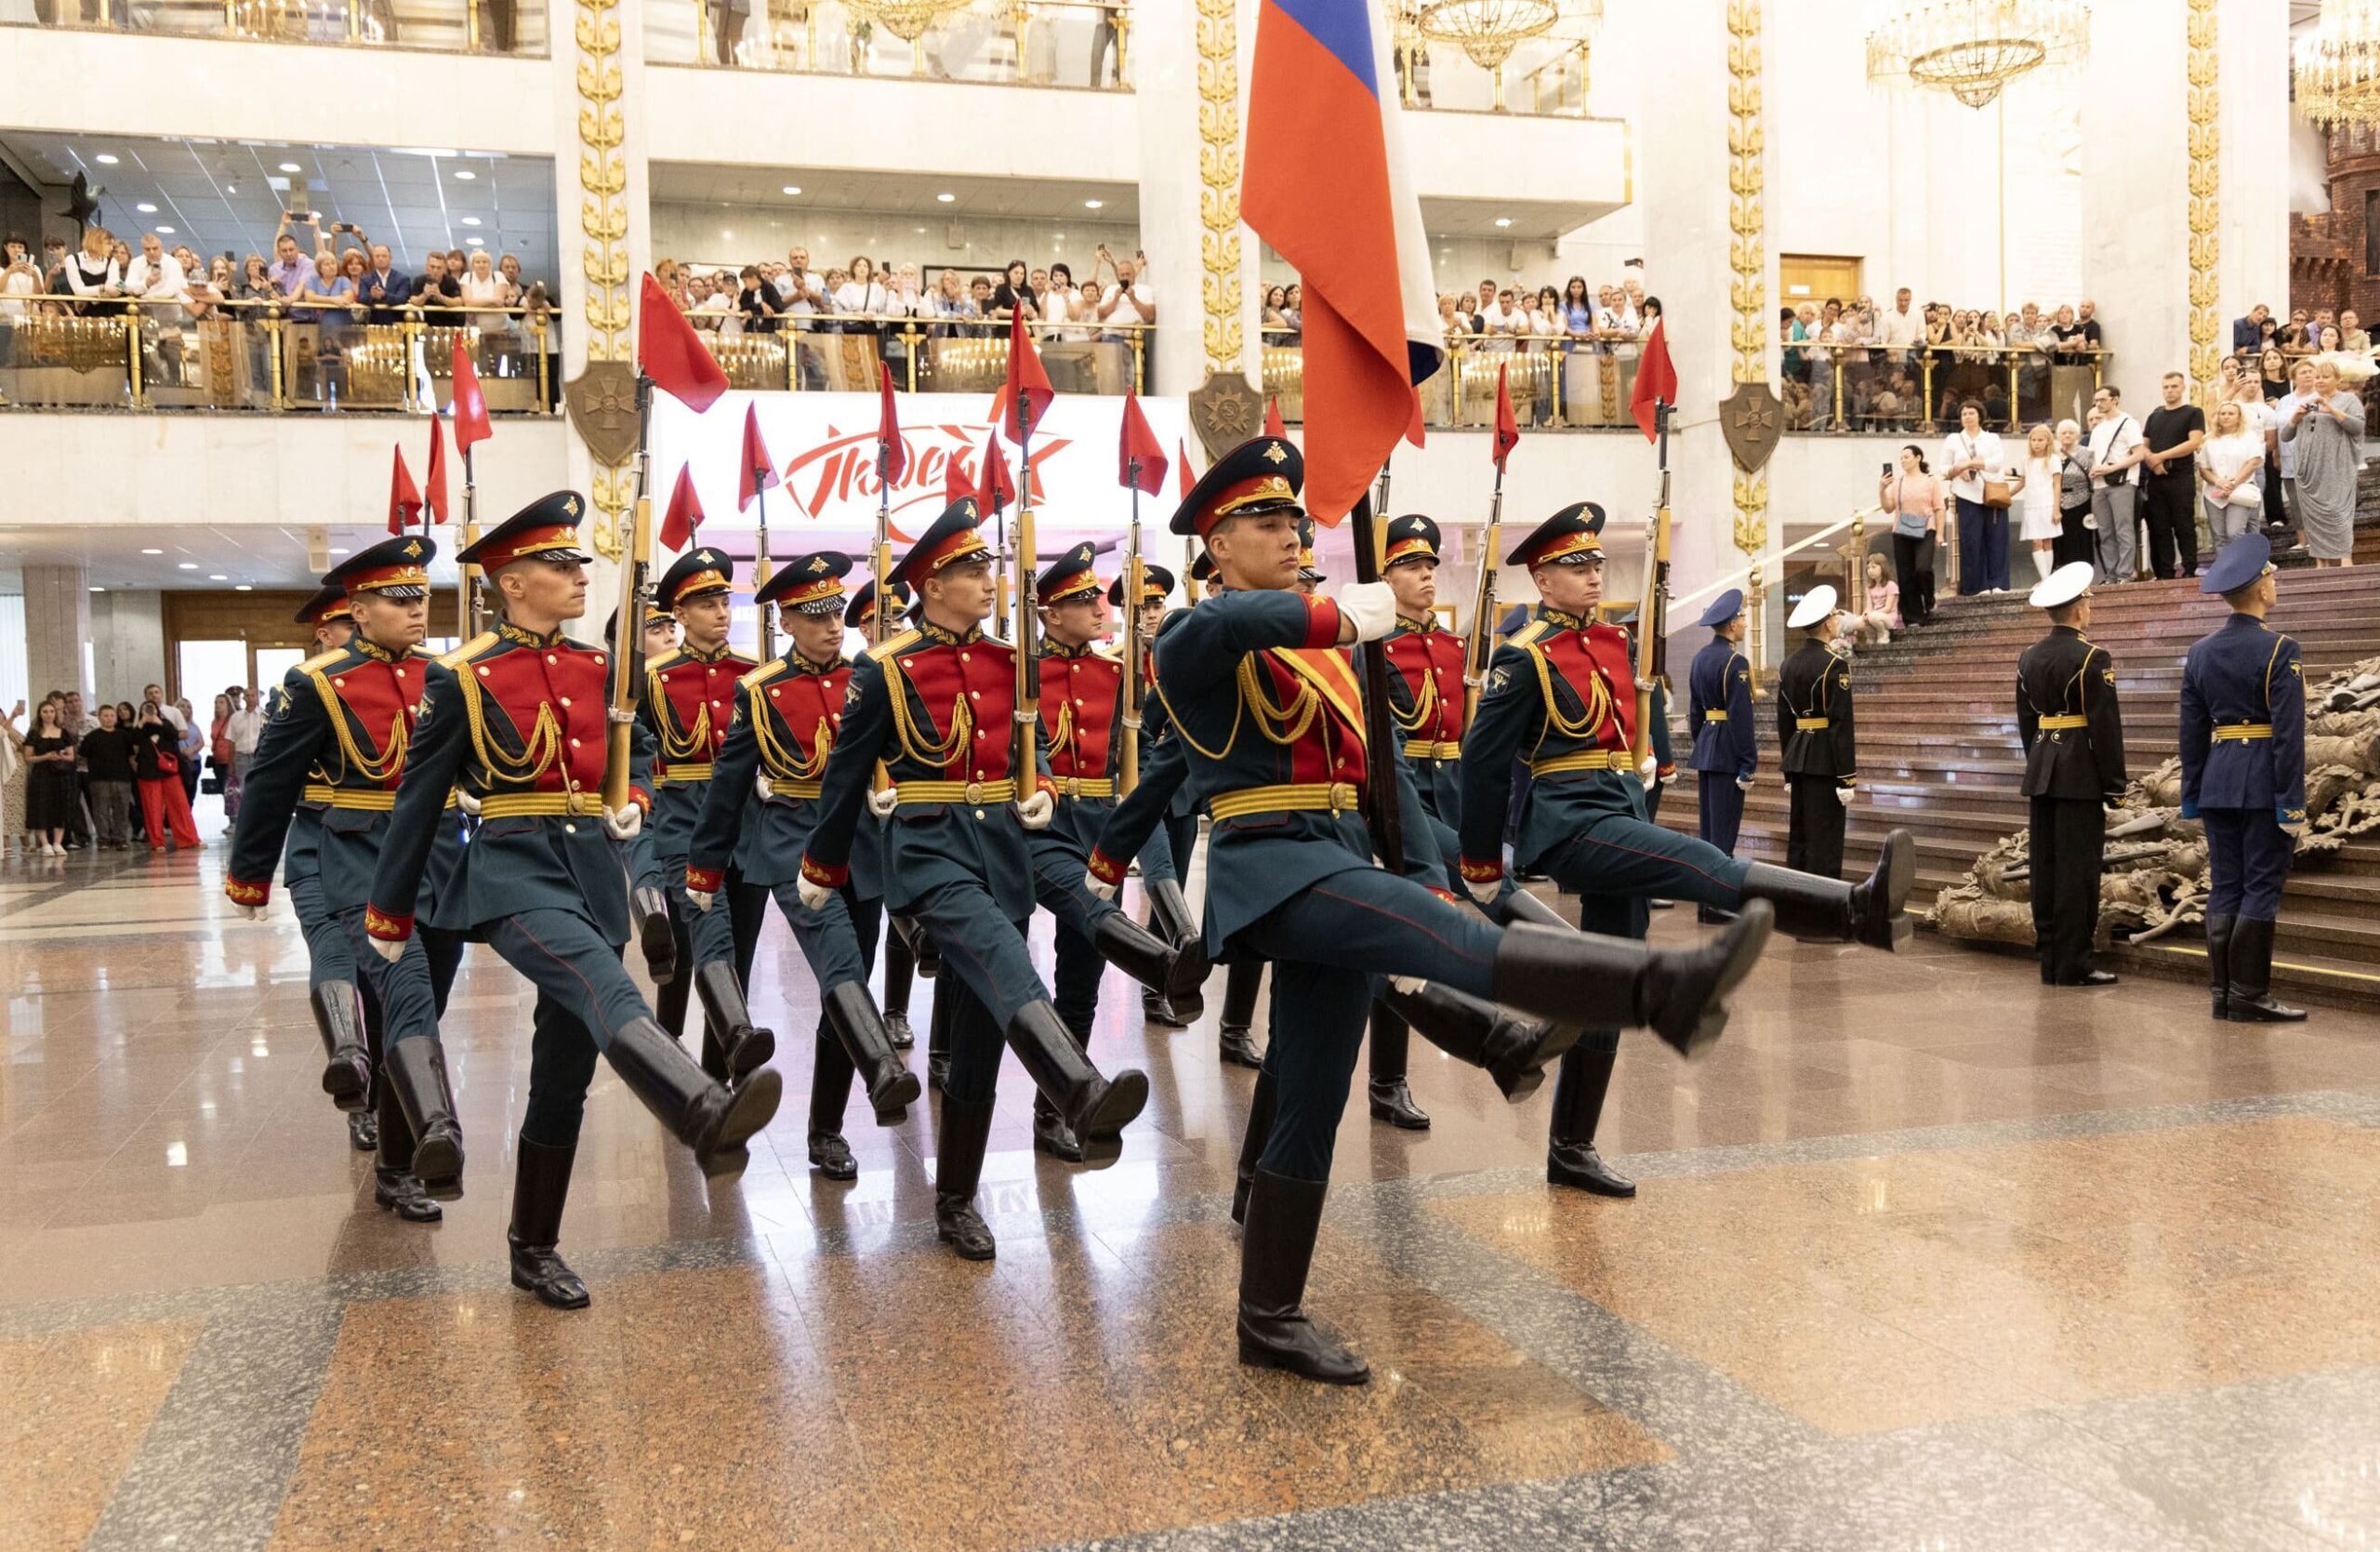
[{"label": "topmost balcony railing between the two columns left of the flag", "polygon": [[650,0],[645,60],[826,76],[912,76],[995,86],[1130,90],[1133,7],[1092,0],[978,0],[916,40],[843,0]]}]

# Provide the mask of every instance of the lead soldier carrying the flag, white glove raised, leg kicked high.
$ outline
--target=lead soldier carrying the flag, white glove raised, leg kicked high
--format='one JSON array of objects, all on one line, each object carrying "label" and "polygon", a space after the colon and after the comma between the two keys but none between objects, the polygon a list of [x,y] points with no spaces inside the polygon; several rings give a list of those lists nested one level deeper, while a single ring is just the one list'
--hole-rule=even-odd
[{"label": "lead soldier carrying the flag, white glove raised, leg kicked high", "polygon": [[[1378,866],[1359,802],[1366,781],[1395,778],[1397,752],[1366,747],[1357,669],[1340,647],[1385,638],[1395,595],[1385,583],[1338,600],[1295,593],[1299,483],[1297,448],[1266,436],[1216,459],[1183,497],[1173,531],[1207,543],[1226,590],[1159,638],[1157,683],[1190,786],[1214,814],[1207,945],[1226,962],[1273,964],[1273,1114],[1245,1204],[1240,1362],[1361,1383],[1366,1364],[1316,1331],[1302,1297],[1364,1009],[1380,978],[1428,981],[1547,1019],[1621,1009],[1692,1052],[1726,1021],[1723,995],[1759,955],[1771,914],[1752,907],[1728,933],[1656,955],[1571,931],[1497,928],[1457,907],[1421,883],[1442,878],[1423,824],[1399,859],[1418,878]],[[1499,793],[1492,809],[1502,814]],[[1468,790],[1464,812],[1473,812]],[[1542,1069],[1566,1038],[1511,1021],[1492,1028],[1533,1031],[1511,1050],[1471,1055],[1504,1076]]]}]

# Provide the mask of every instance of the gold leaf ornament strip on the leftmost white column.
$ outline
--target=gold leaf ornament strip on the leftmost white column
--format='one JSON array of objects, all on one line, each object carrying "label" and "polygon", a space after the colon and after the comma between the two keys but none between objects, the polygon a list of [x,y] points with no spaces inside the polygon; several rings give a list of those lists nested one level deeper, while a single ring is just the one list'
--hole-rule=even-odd
[{"label": "gold leaf ornament strip on the leftmost white column", "polygon": [[[588,279],[588,359],[631,359],[628,328],[628,159],[621,145],[619,10],[616,0],[576,0],[578,38],[578,262]],[[626,464],[597,467],[588,495],[595,500],[595,552],[619,559],[635,481]]]}]

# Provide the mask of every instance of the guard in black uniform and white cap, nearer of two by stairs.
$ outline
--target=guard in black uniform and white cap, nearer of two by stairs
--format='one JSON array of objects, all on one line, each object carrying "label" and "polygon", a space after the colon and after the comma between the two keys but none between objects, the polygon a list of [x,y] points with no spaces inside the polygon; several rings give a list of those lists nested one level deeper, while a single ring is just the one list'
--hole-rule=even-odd
[{"label": "guard in black uniform and white cap, nearer of two by stairs", "polygon": [[2049,636],[2016,659],[2016,736],[2025,745],[2033,805],[2033,940],[2042,985],[2116,985],[2090,962],[2099,931],[2099,855],[2106,812],[2123,797],[2123,712],[2116,659],[2090,628],[2092,564],[2059,567],[2033,588]]}]

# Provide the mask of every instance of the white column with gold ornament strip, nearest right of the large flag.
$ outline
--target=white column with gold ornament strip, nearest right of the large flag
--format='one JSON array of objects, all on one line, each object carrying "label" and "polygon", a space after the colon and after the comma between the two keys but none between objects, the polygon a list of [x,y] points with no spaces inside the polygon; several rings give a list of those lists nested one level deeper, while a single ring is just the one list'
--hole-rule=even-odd
[{"label": "white column with gold ornament strip, nearest right of the large flag", "polygon": [[[1676,319],[1668,333],[1678,367],[1668,455],[1673,595],[1775,547],[1768,478],[1737,469],[1718,428],[1718,402],[1740,381],[1775,383],[1764,31],[1761,0],[1676,7],[1661,31],[1661,71],[1690,100],[1661,114],[1659,133],[1635,138],[1645,252],[1659,264],[1661,305]],[[1614,524],[1621,519],[1611,514]],[[1637,578],[1616,576],[1611,590],[1635,595]]]}]

